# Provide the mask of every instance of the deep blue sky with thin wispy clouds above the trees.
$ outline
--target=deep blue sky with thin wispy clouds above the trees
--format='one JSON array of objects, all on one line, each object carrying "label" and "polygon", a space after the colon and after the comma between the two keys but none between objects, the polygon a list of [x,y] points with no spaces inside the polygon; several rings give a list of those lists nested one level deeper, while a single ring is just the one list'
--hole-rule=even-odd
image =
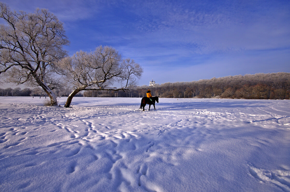
[{"label": "deep blue sky with thin wispy clouds above the trees", "polygon": [[[1,1],[1,0],[0,0]],[[139,85],[290,72],[290,1],[5,0],[64,23],[70,55],[115,47],[144,68]]]}]

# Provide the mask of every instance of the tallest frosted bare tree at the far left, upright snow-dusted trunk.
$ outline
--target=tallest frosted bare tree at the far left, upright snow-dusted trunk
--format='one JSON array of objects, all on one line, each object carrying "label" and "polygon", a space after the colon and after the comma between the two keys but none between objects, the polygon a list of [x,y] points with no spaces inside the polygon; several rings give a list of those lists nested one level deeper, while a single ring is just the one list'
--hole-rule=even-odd
[{"label": "tallest frosted bare tree at the far left, upright snow-dusted trunk", "polygon": [[53,65],[67,55],[63,46],[69,44],[63,23],[46,9],[17,13],[4,3],[0,8],[6,22],[0,26],[0,74],[6,82],[40,86],[50,105],[57,105]]}]

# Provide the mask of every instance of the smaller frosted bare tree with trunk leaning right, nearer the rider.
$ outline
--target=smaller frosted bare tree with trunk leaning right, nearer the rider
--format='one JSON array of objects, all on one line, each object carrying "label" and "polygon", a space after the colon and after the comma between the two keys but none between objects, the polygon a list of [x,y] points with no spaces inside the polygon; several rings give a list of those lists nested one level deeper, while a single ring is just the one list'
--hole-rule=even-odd
[{"label": "smaller frosted bare tree with trunk leaning right, nearer the rider", "polygon": [[[140,71],[135,72],[137,69]],[[89,53],[76,52],[72,57],[59,61],[57,70],[65,76],[65,81],[73,88],[65,107],[69,107],[73,97],[82,90],[129,90],[130,86],[137,85],[136,77],[140,78],[143,73],[143,68],[134,60],[122,62],[118,51],[109,46],[99,46],[94,52]],[[110,88],[109,86],[115,82],[119,82],[122,86]]]}]

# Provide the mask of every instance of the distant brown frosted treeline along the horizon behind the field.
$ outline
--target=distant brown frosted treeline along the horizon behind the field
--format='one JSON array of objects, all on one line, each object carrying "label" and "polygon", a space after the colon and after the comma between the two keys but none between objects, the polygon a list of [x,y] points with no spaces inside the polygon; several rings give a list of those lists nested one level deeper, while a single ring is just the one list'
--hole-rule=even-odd
[{"label": "distant brown frosted treeline along the horizon behind the field", "polygon": [[[191,82],[136,86],[131,91],[85,91],[78,96],[85,97],[145,97],[150,89],[153,96],[166,98],[237,98],[237,99],[289,99],[290,73],[257,73],[235,75]],[[3,96],[11,96],[11,88],[3,90]],[[67,90],[59,90],[58,96],[68,96]],[[1,94],[1,92],[0,92]],[[13,89],[13,96],[40,96],[41,89]]]}]

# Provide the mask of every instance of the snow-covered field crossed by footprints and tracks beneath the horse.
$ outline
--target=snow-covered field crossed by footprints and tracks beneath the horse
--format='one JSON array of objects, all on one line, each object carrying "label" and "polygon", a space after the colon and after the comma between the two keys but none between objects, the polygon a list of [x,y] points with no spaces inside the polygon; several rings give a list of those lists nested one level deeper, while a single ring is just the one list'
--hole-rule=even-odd
[{"label": "snow-covered field crossed by footprints and tracks beneath the horse", "polygon": [[0,191],[290,191],[290,100],[140,102],[0,97]]}]

